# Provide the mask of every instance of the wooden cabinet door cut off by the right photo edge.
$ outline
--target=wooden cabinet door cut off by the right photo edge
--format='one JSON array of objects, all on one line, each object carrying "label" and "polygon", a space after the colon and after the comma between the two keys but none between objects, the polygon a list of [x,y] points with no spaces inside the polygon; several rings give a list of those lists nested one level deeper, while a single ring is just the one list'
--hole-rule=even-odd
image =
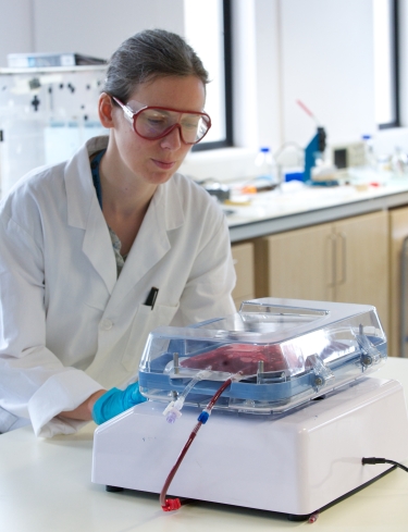
[{"label": "wooden cabinet door cut off by the right photo edge", "polygon": [[[390,350],[394,356],[408,356],[408,344],[400,352],[400,330],[408,331],[408,324],[401,323],[401,250],[408,236],[408,208],[394,209],[390,212]],[[406,273],[408,280],[408,272]],[[408,309],[408,301],[405,301]],[[408,313],[408,312],[407,312]]]}]

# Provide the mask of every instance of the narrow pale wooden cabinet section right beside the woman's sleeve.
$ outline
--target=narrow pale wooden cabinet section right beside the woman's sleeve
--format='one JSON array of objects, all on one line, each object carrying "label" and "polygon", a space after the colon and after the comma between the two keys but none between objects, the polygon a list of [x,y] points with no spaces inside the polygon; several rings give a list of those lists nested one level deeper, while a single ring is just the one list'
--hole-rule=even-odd
[{"label": "narrow pale wooden cabinet section right beside the woman's sleeve", "polygon": [[233,298],[237,310],[240,304],[255,298],[255,251],[254,243],[244,242],[232,246],[236,273]]}]

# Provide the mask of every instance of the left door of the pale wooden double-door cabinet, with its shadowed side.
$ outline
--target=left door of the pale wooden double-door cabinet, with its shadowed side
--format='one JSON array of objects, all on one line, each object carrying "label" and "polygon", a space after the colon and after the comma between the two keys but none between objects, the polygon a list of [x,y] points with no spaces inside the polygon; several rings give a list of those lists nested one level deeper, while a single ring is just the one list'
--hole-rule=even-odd
[{"label": "left door of the pale wooden double-door cabinet, with its shadowed side", "polygon": [[257,239],[257,297],[333,300],[334,246],[332,224]]}]

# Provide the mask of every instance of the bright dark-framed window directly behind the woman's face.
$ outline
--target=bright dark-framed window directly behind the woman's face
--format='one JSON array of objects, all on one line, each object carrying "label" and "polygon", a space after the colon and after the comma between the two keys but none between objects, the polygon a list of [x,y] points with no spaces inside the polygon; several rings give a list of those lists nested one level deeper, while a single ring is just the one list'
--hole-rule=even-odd
[{"label": "bright dark-framed window directly behind the woman's face", "polygon": [[232,146],[231,0],[184,0],[185,37],[209,72],[212,127],[194,150]]}]

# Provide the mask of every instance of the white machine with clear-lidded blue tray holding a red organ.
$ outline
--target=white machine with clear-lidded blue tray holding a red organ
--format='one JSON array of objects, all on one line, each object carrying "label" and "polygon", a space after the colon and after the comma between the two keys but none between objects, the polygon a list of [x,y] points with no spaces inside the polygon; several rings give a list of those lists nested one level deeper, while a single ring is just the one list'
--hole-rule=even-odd
[{"label": "white machine with clear-lidded blue tray holding a red organ", "polygon": [[314,515],[392,469],[363,457],[408,458],[401,385],[367,376],[386,356],[376,311],[361,305],[262,298],[156,329],[139,368],[150,400],[96,430],[92,482],[162,493],[197,416],[211,413],[169,495]]}]

